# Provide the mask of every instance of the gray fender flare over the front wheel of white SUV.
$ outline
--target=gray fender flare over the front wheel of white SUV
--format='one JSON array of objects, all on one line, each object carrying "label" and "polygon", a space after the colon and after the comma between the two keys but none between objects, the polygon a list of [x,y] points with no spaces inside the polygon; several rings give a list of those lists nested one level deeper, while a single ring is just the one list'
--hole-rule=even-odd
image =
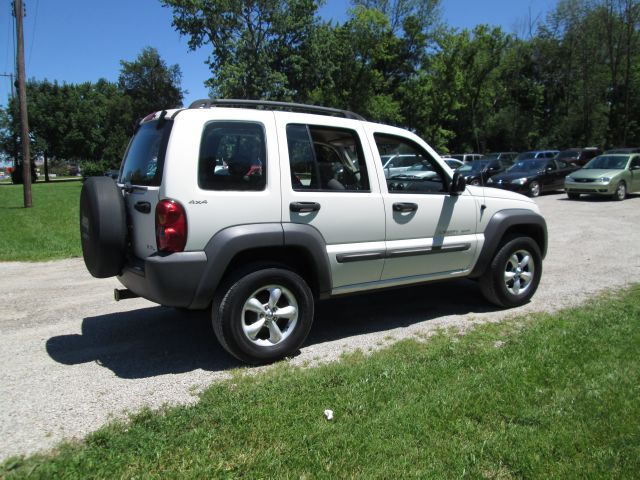
[{"label": "gray fender flare over the front wheel of white SUV", "polygon": [[484,273],[504,234],[511,228],[518,232],[526,232],[540,247],[542,258],[547,255],[547,222],[544,217],[531,210],[513,208],[496,212],[484,230],[484,245],[478,256],[470,278],[477,278]]}]

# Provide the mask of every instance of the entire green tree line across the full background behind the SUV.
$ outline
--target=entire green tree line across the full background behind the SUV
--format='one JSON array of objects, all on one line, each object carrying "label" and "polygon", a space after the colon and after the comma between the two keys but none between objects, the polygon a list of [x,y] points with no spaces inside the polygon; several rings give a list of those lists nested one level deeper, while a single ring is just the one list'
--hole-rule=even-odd
[{"label": "entire green tree line across the full background behind the SUV", "polygon": [[[640,0],[559,0],[518,34],[453,29],[440,0],[352,0],[344,22],[317,0],[161,3],[209,52],[212,97],[353,110],[440,152],[640,145]],[[153,49],[122,65],[117,84],[30,82],[36,151],[116,165],[137,116],[181,103],[179,68]],[[6,132],[11,105],[2,118]]]}]

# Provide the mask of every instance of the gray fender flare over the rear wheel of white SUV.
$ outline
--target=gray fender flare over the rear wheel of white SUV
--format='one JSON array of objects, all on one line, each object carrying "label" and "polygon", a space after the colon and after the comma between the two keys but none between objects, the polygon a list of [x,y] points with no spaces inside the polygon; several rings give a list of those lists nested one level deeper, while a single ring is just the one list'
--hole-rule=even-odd
[{"label": "gray fender flare over the rear wheel of white SUV", "polygon": [[216,233],[204,248],[207,265],[190,308],[206,308],[232,259],[244,251],[260,248],[296,248],[311,260],[321,297],[331,292],[331,269],[326,242],[310,225],[260,223],[236,225]]}]

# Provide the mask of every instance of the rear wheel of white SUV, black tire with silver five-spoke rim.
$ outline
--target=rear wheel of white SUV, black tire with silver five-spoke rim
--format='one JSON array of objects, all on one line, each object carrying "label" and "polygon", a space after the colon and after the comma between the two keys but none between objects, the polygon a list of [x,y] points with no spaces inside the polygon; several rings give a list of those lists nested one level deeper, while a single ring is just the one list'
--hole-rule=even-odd
[{"label": "rear wheel of white SUV, black tire with silver five-spoke rim", "polygon": [[[275,288],[280,290],[280,296],[272,293]],[[270,298],[276,296],[279,301],[271,310]],[[266,313],[245,310],[252,299],[257,300]],[[289,307],[296,310],[295,320],[278,316],[278,311],[284,312],[285,308],[291,312]],[[263,364],[298,351],[311,329],[313,309],[311,289],[302,277],[283,268],[263,267],[235,277],[223,286],[221,294],[214,299],[211,317],[213,330],[225,350],[245,363]],[[276,334],[280,332],[283,336],[280,340],[269,326],[274,324]],[[252,326],[253,339],[250,333],[245,333],[245,329]]]}]

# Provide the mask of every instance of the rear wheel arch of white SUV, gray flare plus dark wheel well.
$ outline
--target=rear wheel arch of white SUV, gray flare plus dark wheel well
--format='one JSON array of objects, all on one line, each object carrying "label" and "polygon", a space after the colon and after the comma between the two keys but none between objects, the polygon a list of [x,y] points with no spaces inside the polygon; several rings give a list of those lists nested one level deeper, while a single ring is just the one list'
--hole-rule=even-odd
[{"label": "rear wheel arch of white SUV, gray flare plus dark wheel well", "polygon": [[309,225],[251,224],[216,233],[204,249],[208,262],[190,308],[206,308],[218,285],[243,266],[260,263],[284,265],[309,284],[314,296],[331,291],[331,270],[326,243]]}]

